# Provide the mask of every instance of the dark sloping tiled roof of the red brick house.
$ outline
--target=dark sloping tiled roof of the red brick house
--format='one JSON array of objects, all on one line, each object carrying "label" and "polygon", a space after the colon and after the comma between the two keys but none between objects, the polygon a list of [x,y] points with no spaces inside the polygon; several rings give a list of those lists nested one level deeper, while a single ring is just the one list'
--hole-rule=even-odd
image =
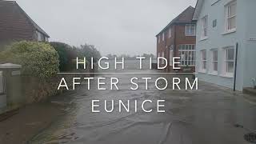
[{"label": "dark sloping tiled roof of the red brick house", "polygon": [[156,36],[165,31],[169,26],[174,23],[191,23],[194,14],[194,7],[189,6],[186,10],[182,11],[176,18],[174,18],[163,30],[161,30]]}]

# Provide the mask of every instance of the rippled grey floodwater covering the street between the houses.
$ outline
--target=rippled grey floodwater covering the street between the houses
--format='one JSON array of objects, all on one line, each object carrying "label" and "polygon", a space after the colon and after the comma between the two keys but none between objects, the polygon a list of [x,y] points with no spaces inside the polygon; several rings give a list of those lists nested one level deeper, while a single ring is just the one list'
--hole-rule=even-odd
[{"label": "rippled grey floodwater covering the street between the houses", "polygon": [[[91,90],[86,83],[76,90],[58,96],[52,102],[65,105],[65,114],[48,128],[31,139],[31,143],[86,143],[86,144],[247,144],[244,134],[250,131],[234,127],[241,124],[256,130],[256,105],[246,100],[243,94],[229,89],[200,82],[198,90],[157,90],[154,80],[159,77],[191,77],[174,74],[131,74],[155,73],[154,70],[126,70],[130,74],[100,74],[109,84],[111,77],[120,79],[120,90],[97,90],[97,82],[92,81]],[[130,78],[150,77],[149,90],[145,82],[139,80],[139,89],[130,90]],[[184,82],[182,82],[184,83]],[[159,86],[163,83],[159,82]],[[100,113],[92,113],[91,101],[98,102]],[[104,111],[104,100],[114,100],[114,111]],[[130,112],[118,110],[118,100],[130,100]],[[138,111],[134,111],[134,101],[138,101]],[[141,104],[145,100],[146,113]],[[165,100],[165,113],[157,112],[157,100]]]}]

